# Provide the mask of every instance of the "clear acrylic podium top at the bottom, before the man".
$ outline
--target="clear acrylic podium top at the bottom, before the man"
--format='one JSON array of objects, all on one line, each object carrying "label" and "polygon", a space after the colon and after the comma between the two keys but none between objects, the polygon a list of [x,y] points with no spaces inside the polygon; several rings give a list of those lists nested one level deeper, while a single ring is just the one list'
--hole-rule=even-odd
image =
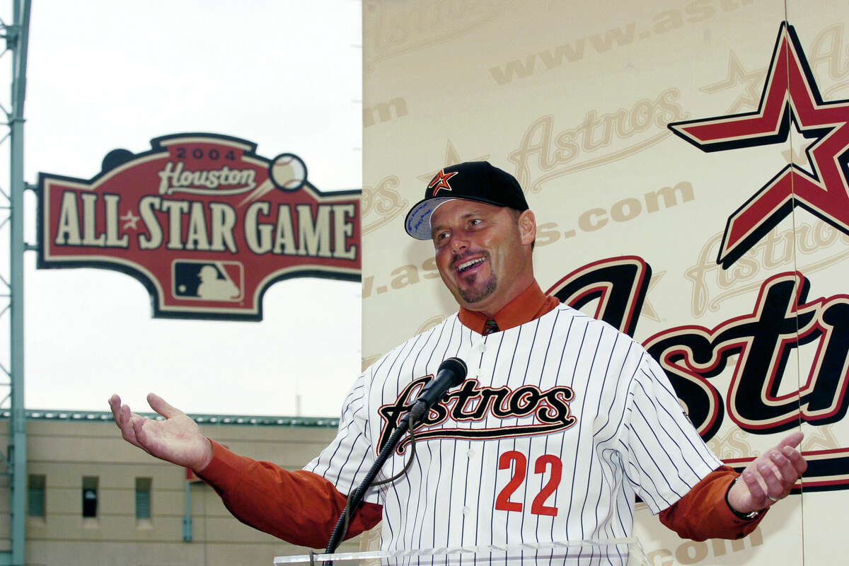
[{"label": "clear acrylic podium top at the bottom, before the man", "polygon": [[598,541],[528,542],[510,545],[456,546],[453,548],[417,548],[411,550],[376,550],[304,554],[274,557],[275,566],[284,564],[316,564],[333,561],[335,566],[416,566],[447,564],[464,566],[475,563],[492,566],[525,566],[549,564],[583,566],[650,566],[643,546],[636,537]]}]

